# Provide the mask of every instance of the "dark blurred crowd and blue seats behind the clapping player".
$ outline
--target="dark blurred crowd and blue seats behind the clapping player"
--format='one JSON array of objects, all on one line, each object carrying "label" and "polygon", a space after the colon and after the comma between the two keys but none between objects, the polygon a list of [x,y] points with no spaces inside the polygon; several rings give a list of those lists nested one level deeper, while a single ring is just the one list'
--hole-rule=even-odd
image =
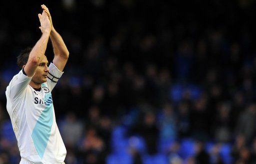
[{"label": "dark blurred crowd and blue seats behind the clapping player", "polygon": [[[39,2],[8,3],[0,2],[0,164],[18,164],[4,92],[16,56],[40,37],[41,11]],[[52,91],[65,164],[256,164],[254,1],[43,3],[70,52]]]}]

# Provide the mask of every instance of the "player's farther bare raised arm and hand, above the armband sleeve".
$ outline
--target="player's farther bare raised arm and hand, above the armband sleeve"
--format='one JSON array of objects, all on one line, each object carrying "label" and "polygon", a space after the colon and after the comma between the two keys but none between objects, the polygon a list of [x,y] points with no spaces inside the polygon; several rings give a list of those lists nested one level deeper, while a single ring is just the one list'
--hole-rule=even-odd
[{"label": "player's farther bare raised arm and hand, above the armband sleeve", "polygon": [[48,8],[44,4],[42,4],[41,7],[43,11],[47,13],[51,23],[50,40],[51,40],[53,52],[54,52],[53,64],[58,68],[59,71],[62,72],[66,65],[69,52],[66,48],[66,45],[62,37],[57,33],[57,31],[54,29],[52,25],[52,20],[51,20],[51,16]]}]

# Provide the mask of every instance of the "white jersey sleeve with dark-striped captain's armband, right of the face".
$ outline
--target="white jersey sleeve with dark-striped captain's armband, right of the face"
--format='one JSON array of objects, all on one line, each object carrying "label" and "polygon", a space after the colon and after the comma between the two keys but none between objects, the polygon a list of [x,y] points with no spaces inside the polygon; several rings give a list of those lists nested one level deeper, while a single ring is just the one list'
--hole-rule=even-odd
[{"label": "white jersey sleeve with dark-striped captain's armband, right of the face", "polygon": [[56,83],[58,82],[59,78],[62,76],[64,72],[61,72],[57,69],[57,67],[53,64],[50,63],[49,65],[49,72],[47,76],[47,87],[49,88],[50,91],[55,87]]}]

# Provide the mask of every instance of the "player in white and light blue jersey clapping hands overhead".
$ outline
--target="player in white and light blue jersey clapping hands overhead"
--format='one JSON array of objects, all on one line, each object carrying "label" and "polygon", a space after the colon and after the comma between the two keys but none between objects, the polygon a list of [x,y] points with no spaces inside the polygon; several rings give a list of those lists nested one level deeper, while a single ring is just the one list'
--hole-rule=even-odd
[{"label": "player in white and light blue jersey clapping hands overhead", "polygon": [[[6,88],[7,111],[15,133],[19,164],[64,164],[66,149],[55,121],[51,91],[62,75],[69,52],[52,25],[48,8],[38,14],[42,32],[32,49],[17,57],[21,70]],[[44,55],[50,38],[54,58]]]}]

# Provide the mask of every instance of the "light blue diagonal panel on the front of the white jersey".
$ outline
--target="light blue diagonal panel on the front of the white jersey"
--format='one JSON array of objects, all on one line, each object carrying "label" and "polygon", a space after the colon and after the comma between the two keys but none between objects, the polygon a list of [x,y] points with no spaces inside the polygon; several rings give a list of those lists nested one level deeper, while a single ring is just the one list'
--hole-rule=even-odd
[{"label": "light blue diagonal panel on the front of the white jersey", "polygon": [[[44,87],[45,84],[42,84],[41,89]],[[38,118],[31,135],[34,147],[41,159],[50,137],[50,130],[53,122],[53,104],[50,92],[45,93],[44,104],[46,107]]]}]

